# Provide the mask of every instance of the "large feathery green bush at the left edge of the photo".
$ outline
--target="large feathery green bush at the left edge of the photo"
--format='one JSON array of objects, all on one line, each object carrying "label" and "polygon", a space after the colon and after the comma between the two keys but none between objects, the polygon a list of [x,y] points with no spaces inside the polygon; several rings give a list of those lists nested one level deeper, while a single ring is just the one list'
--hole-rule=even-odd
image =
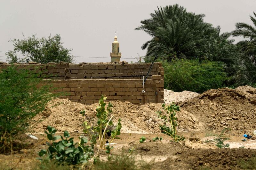
[{"label": "large feathery green bush at the left edge of the photo", "polygon": [[41,80],[36,76],[14,66],[0,73],[0,152],[12,137],[26,132],[28,121],[54,97],[49,86],[36,87]]}]

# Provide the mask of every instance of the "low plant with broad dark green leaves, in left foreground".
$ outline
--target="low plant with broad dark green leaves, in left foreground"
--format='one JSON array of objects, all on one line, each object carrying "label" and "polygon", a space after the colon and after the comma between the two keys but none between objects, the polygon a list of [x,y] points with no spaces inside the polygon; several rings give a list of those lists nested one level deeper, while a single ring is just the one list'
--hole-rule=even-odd
[{"label": "low plant with broad dark green leaves, in left foreground", "polygon": [[[47,155],[47,159],[56,160],[58,164],[68,165],[84,164],[93,157],[96,140],[91,140],[91,144],[87,145],[88,139],[79,137],[79,143],[74,143],[73,137],[70,137],[67,131],[64,132],[64,137],[62,137],[55,135],[57,132],[55,128],[48,126],[47,129],[48,132],[46,130],[44,132],[52,143],[47,143],[48,149],[41,150],[38,153],[40,157]],[[42,160],[42,158],[39,159]]]}]

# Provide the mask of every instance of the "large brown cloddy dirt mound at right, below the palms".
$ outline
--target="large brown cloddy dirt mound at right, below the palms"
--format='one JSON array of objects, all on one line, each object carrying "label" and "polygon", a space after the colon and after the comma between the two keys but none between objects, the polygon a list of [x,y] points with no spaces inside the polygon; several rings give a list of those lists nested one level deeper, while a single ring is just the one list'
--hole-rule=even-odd
[{"label": "large brown cloddy dirt mound at right, below the palms", "polygon": [[256,128],[256,105],[249,102],[256,95],[241,89],[211,89],[179,105],[200,118],[205,129],[220,131],[228,127],[252,133]]}]

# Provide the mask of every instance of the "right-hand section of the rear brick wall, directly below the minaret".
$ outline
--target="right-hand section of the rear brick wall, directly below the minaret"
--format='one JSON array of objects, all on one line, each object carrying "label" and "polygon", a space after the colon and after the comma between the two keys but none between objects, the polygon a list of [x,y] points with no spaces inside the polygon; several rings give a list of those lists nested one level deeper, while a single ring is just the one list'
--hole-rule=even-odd
[{"label": "right-hand section of the rear brick wall, directly below the minaret", "polygon": [[[69,79],[142,79],[146,76],[151,63],[135,64],[69,64]],[[164,75],[162,63],[154,63],[148,78],[152,75]]]}]

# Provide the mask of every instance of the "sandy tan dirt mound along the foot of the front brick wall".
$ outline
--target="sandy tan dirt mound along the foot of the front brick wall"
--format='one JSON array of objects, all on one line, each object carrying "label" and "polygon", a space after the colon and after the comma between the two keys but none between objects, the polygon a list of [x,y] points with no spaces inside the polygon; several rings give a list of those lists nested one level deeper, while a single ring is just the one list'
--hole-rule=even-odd
[{"label": "sandy tan dirt mound along the foot of the front brick wall", "polygon": [[[113,122],[121,119],[122,133],[160,133],[159,124],[162,120],[157,118],[156,111],[162,108],[160,103],[145,105],[133,105],[130,102],[112,101]],[[47,109],[40,115],[36,115],[31,121],[31,128],[36,133],[44,133],[44,129],[50,125],[59,131],[82,132],[84,121],[95,125],[97,123],[96,107],[98,103],[84,105],[72,102],[68,99],[54,99]],[[79,112],[85,110],[85,116]],[[190,113],[180,111],[177,113],[178,130],[180,132],[200,130],[202,124]],[[36,122],[34,122],[36,121]]]}]

